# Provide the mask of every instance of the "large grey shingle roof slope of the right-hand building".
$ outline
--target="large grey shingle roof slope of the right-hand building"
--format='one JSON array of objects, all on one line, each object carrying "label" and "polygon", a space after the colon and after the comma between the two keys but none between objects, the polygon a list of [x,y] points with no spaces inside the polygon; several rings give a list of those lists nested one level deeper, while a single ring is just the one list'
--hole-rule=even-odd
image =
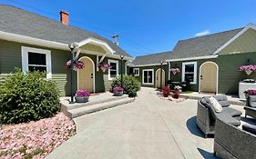
[{"label": "large grey shingle roof slope of the right-hand building", "polygon": [[220,32],[212,35],[180,40],[175,45],[169,60],[189,57],[209,56],[215,53],[222,45],[239,34],[243,28]]}]

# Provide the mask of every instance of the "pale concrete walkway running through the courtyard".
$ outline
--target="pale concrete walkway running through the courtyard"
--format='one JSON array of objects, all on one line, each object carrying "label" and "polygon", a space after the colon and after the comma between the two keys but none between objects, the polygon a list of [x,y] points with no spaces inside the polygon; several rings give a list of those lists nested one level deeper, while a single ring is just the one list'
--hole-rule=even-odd
[{"label": "pale concrete walkway running through the courtyard", "polygon": [[46,158],[213,158],[196,112],[196,100],[174,103],[142,88],[134,103],[76,118],[77,134]]}]

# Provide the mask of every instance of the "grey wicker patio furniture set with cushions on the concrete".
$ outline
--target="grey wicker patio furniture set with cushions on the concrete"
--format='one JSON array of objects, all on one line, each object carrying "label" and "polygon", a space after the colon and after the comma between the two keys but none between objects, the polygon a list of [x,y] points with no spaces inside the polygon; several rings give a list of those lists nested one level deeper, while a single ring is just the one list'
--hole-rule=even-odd
[{"label": "grey wicker patio furniture set with cushions on the concrete", "polygon": [[[214,135],[214,155],[218,154],[221,158],[256,158],[256,154],[252,153],[256,147],[256,125],[241,126],[241,111],[230,107],[226,95],[213,95],[213,98],[220,104],[220,111],[210,97],[201,98],[198,102],[197,126],[205,138]],[[245,117],[256,117],[255,96],[248,98],[244,109]]]}]

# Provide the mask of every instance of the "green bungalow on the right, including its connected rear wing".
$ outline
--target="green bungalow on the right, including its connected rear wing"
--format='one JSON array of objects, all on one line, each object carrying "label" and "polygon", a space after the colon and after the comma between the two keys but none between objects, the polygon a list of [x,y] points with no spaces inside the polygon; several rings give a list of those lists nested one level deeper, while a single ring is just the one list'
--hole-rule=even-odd
[{"label": "green bungalow on the right, including its connected rear wing", "polygon": [[[158,87],[154,82],[150,85],[143,84],[147,80],[145,75],[148,74],[143,73],[143,70],[152,70],[149,74],[156,75],[160,61],[163,61],[165,72],[169,72],[170,68],[179,68],[180,73],[169,74],[172,82],[184,82],[189,79],[189,89],[195,92],[238,94],[242,80],[256,80],[256,73],[247,75],[239,71],[241,65],[256,65],[255,25],[180,40],[172,51],[166,53],[169,54],[166,59],[158,57],[161,54],[135,58],[132,67],[139,70],[138,78],[142,85]],[[158,61],[158,64],[147,65],[150,60]],[[136,71],[133,73],[137,74]]]}]

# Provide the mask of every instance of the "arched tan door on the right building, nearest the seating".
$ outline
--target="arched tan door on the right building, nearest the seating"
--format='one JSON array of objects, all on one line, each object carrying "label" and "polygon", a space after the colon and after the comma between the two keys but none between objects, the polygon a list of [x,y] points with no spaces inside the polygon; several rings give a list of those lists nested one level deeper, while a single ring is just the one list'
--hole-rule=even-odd
[{"label": "arched tan door on the right building, nearest the seating", "polygon": [[217,65],[206,62],[200,67],[200,91],[206,93],[217,92]]}]

